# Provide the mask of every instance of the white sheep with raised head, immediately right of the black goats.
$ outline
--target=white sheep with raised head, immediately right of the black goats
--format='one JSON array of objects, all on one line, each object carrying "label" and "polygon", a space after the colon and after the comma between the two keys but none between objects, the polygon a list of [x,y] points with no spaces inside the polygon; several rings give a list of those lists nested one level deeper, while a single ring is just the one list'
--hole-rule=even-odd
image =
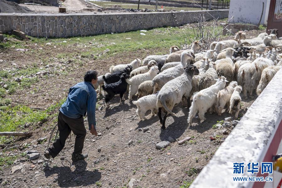
[{"label": "white sheep with raised head, immediately right of the black goats", "polygon": [[129,99],[132,100],[132,97],[137,93],[139,85],[147,80],[152,80],[159,73],[158,67],[153,66],[147,73],[138,74],[132,77],[129,80]]}]

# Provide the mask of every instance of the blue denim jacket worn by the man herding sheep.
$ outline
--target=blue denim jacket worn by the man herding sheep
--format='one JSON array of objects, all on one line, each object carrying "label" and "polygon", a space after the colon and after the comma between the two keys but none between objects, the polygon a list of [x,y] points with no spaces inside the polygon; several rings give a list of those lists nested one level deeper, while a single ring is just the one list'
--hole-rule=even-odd
[{"label": "blue denim jacket worn by the man herding sheep", "polygon": [[96,96],[97,93],[91,82],[80,82],[71,87],[66,102],[60,111],[69,118],[80,118],[87,112],[89,130],[91,124],[96,129]]}]

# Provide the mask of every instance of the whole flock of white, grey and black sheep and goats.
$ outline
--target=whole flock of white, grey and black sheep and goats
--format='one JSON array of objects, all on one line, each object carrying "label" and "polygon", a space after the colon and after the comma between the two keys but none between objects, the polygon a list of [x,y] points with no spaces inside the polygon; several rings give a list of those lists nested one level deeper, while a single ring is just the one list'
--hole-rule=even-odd
[{"label": "whole flock of white, grey and black sheep and goats", "polygon": [[99,76],[94,87],[99,87],[100,94],[103,88],[109,107],[116,95],[120,95],[120,104],[124,103],[129,86],[130,100],[138,93],[133,104],[140,119],[145,120],[146,111],[151,110],[153,116],[158,114],[162,129],[167,116],[175,115],[173,107],[180,102],[189,108],[190,126],[196,113],[200,120],[206,120],[208,110],[221,115],[225,105],[225,111],[235,111],[237,118],[241,91],[246,99],[247,92],[252,97],[253,89],[259,95],[282,66],[282,38],[277,36],[278,30],[273,29],[270,35],[261,33],[246,39],[246,33],[239,31],[233,39],[212,42],[206,51],[200,51],[199,41],[185,50],[171,46],[167,55],[151,55],[142,63],[135,59],[129,64],[111,66],[110,73]]}]

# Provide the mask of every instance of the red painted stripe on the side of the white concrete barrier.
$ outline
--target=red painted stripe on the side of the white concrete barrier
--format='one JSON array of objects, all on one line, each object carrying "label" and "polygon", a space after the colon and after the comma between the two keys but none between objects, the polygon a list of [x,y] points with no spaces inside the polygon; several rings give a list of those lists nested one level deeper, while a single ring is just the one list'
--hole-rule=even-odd
[{"label": "red painted stripe on the side of the white concrete barrier", "polygon": [[[282,139],[282,121],[280,121],[279,126],[274,134],[274,137],[267,149],[267,152],[263,158],[263,161],[260,162],[272,162],[272,156],[277,154],[279,144]],[[264,178],[268,176],[268,174],[261,174],[261,169],[259,170],[258,176],[263,176]],[[263,188],[265,181],[256,181],[253,184],[253,188]]]}]

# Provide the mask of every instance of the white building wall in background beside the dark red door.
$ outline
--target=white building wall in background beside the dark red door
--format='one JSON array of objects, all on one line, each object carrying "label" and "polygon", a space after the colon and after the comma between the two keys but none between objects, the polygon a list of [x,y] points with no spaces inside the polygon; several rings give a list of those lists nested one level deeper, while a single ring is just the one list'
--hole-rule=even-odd
[{"label": "white building wall in background beside the dark red door", "polygon": [[228,17],[234,16],[231,23],[258,24],[263,9],[260,24],[267,24],[269,4],[270,0],[230,0]]}]

